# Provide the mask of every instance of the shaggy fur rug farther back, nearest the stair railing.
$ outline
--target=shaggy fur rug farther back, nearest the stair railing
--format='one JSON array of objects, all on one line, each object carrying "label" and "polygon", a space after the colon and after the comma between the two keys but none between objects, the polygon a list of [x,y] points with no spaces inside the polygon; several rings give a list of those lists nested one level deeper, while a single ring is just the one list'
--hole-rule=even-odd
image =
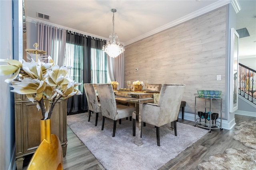
[{"label": "shaggy fur rug farther back, nearest the stair railing", "polygon": [[[256,121],[245,121],[236,126],[233,138],[245,146],[256,149]],[[256,151],[255,151],[256,152]]]}]

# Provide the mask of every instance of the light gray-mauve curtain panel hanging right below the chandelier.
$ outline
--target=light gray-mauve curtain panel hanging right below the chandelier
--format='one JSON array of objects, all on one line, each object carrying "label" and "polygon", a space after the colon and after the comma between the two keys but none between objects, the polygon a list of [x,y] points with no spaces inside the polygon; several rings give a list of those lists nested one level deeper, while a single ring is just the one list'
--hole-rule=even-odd
[{"label": "light gray-mauve curtain panel hanging right below the chandelier", "polygon": [[117,81],[119,88],[124,87],[124,53],[121,53],[115,58],[107,56],[108,73],[111,81]]}]

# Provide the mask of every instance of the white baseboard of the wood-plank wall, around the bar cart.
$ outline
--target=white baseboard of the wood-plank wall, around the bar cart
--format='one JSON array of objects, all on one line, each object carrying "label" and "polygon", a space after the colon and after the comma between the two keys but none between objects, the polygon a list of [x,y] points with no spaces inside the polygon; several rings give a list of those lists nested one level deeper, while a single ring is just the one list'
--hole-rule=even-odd
[{"label": "white baseboard of the wood-plank wall, around the bar cart", "polygon": [[[180,119],[182,118],[182,113],[181,112],[179,113],[179,118]],[[194,115],[194,113],[184,112],[184,119],[194,122],[195,121],[195,115]],[[220,122],[220,119],[217,119],[217,121]],[[235,119],[233,119],[229,123],[228,123],[227,120],[222,119],[222,126],[221,127],[224,128],[224,129],[231,130],[235,125],[236,125]]]}]

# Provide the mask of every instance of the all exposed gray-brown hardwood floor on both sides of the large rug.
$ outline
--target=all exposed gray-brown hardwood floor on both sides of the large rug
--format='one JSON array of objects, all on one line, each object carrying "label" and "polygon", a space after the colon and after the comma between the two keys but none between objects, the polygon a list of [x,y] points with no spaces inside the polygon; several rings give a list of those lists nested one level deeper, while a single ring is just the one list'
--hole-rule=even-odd
[{"label": "all exposed gray-brown hardwood floor on both sides of the large rug", "polygon": [[[244,121],[256,121],[256,117],[235,115],[236,126]],[[194,122],[179,119],[180,123],[194,125]],[[234,140],[235,128],[232,130],[214,129],[200,138],[192,146],[170,160],[159,170],[193,170],[200,162],[207,161],[213,154],[222,154],[227,148],[248,148]],[[99,146],[100,147],[100,146]],[[68,147],[64,158],[64,170],[105,170],[87,147],[68,127]]]}]

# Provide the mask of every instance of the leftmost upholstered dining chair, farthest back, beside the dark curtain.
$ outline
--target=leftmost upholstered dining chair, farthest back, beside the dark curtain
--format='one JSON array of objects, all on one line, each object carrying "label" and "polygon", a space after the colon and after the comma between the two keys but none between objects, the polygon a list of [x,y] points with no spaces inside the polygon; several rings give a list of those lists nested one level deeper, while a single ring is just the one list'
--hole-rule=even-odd
[{"label": "leftmost upholstered dining chair, farthest back, beside the dark curtain", "polygon": [[88,122],[90,122],[91,113],[96,113],[95,126],[97,126],[99,113],[101,112],[101,106],[100,102],[98,102],[94,84],[84,83],[84,91],[88,102]]}]

